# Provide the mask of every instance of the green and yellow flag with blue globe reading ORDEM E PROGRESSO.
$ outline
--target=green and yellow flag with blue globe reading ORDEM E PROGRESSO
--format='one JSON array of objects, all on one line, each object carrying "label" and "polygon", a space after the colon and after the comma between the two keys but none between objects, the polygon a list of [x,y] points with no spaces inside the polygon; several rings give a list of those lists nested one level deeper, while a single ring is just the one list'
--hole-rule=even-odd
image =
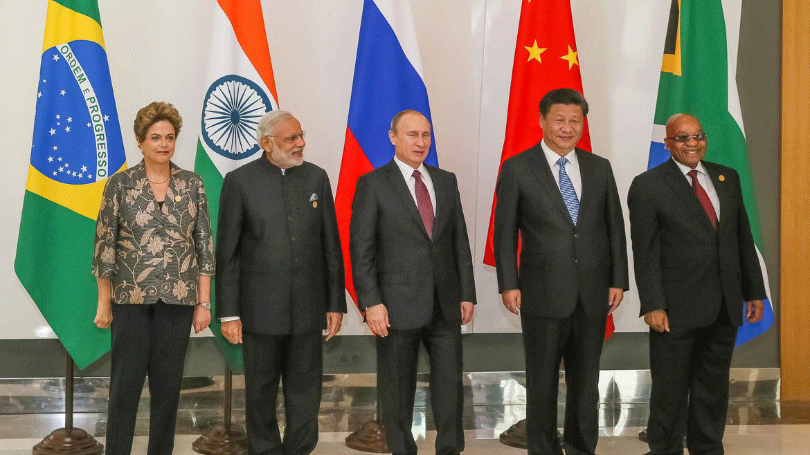
[{"label": "green and yellow flag with blue globe reading ORDEM E PROGRESSO", "polygon": [[79,368],[109,351],[90,257],[104,184],[123,168],[98,2],[49,0],[14,269]]}]

